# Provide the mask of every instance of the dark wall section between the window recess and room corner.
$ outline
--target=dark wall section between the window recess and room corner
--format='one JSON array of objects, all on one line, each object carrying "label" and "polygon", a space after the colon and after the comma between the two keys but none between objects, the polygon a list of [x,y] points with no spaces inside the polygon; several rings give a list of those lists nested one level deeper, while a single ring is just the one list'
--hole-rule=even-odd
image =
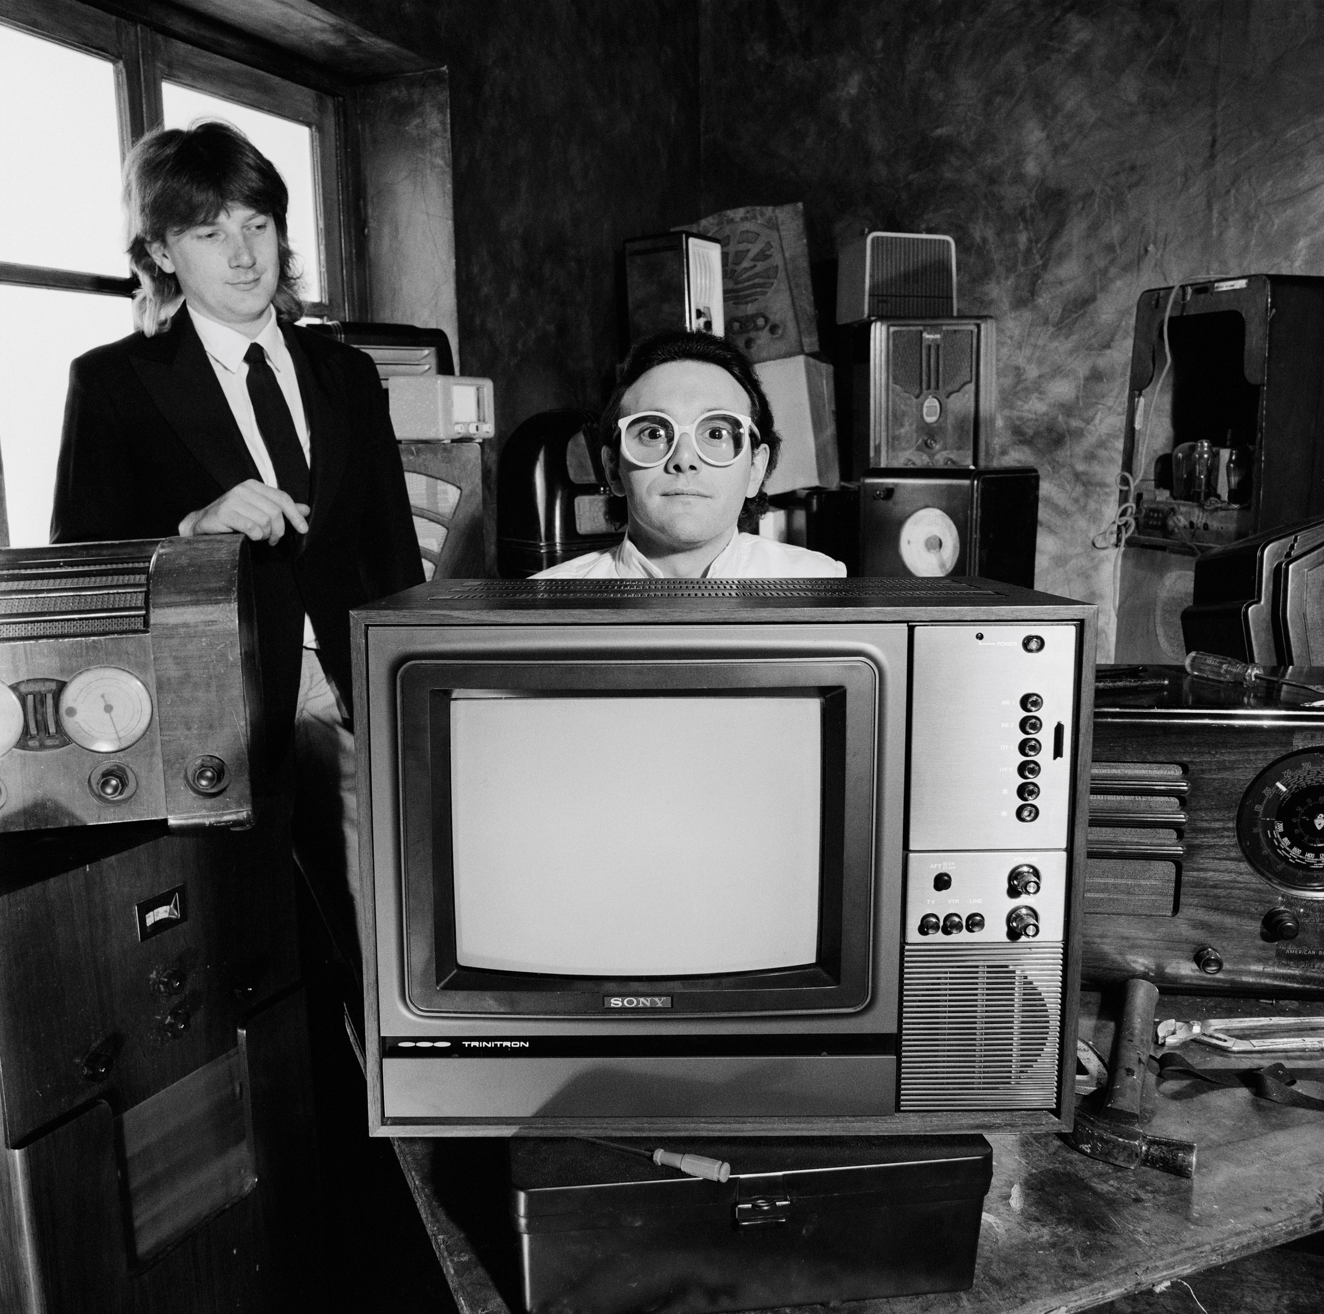
[{"label": "dark wall section between the window recess and room corner", "polygon": [[626,237],[699,199],[696,0],[320,0],[450,74],[461,368],[502,436],[605,400]]}]

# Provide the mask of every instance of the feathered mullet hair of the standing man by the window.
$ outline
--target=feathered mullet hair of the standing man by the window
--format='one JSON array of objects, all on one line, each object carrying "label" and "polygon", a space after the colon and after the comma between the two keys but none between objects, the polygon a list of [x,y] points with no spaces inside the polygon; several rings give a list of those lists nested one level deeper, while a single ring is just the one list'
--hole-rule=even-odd
[{"label": "feathered mullet hair of the standing man by the window", "polygon": [[236,205],[271,216],[281,256],[281,277],[271,301],[285,319],[303,315],[299,270],[286,225],[290,193],[285,180],[237,127],[203,119],[188,128],[155,128],[124,160],[128,261],[140,283],[134,293],[135,328],[148,338],[167,331],[184,303],[179,279],[152,260],[151,245],[197,224],[211,224]]}]

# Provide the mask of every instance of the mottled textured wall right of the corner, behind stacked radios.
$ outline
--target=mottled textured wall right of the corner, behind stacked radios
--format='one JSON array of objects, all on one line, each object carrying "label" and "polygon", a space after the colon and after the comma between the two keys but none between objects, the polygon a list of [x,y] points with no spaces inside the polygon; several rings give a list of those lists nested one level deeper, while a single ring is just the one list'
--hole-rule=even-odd
[{"label": "mottled textured wall right of the corner, behind stacked radios", "polygon": [[1104,604],[1137,294],[1324,274],[1305,0],[699,0],[702,209],[802,200],[810,256],[956,238],[998,318],[997,464],[1042,474],[1041,588]]}]

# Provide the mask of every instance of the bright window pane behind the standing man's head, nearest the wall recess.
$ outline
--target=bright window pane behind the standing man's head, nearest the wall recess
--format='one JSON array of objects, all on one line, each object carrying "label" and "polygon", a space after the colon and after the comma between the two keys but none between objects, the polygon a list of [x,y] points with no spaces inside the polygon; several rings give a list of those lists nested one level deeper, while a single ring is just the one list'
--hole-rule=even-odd
[{"label": "bright window pane behind the standing man's head, nearest the wall recess", "polygon": [[303,270],[303,298],[322,301],[312,128],[175,82],[162,83],[162,106],[166,127],[188,127],[195,119],[233,123],[279,170],[290,189],[290,245]]}]

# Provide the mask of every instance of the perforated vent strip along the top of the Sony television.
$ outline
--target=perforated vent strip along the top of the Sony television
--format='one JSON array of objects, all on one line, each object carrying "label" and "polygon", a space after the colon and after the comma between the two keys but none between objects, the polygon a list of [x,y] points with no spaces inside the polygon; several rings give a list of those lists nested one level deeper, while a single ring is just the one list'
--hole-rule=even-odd
[{"label": "perforated vent strip along the top of the Sony television", "polygon": [[957,579],[493,579],[457,584],[442,597],[510,599],[902,599],[924,601],[1000,597],[996,589]]}]

